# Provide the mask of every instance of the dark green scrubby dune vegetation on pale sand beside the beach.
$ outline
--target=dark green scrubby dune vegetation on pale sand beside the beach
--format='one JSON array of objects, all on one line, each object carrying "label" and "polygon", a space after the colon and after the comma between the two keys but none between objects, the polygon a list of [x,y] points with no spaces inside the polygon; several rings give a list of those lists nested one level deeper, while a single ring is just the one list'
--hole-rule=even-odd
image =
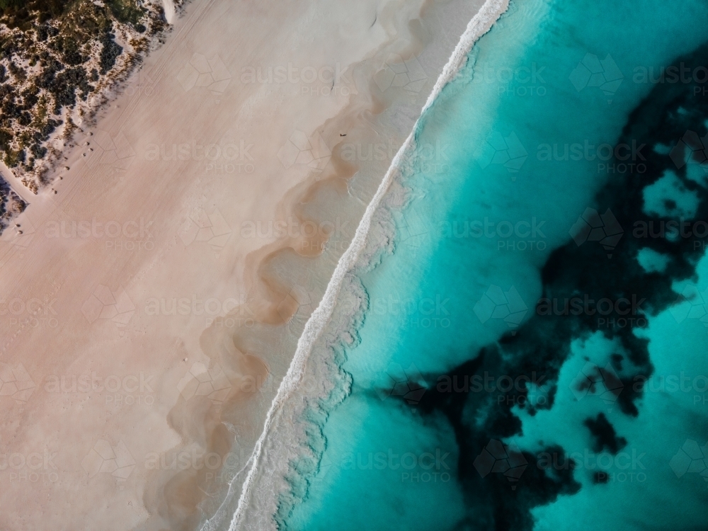
[{"label": "dark green scrubby dune vegetation on pale sand beside the beach", "polygon": [[[0,0],[0,159],[34,193],[168,27],[142,0]],[[0,188],[0,200],[4,200]]]}]

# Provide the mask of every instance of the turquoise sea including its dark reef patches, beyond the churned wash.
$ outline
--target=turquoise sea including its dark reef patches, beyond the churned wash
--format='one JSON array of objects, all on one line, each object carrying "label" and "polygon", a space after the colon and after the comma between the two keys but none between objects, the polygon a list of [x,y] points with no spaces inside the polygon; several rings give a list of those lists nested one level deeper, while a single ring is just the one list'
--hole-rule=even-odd
[{"label": "turquoise sea including its dark reef patches, beyond the churned wash", "polygon": [[418,124],[280,527],[705,529],[707,41],[704,1],[512,2]]}]

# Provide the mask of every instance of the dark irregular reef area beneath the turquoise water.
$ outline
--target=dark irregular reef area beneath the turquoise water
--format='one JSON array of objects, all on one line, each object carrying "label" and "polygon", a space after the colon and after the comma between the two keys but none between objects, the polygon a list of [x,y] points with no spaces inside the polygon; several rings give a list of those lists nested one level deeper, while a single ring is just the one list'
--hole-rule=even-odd
[{"label": "dark irregular reef area beneath the turquoise water", "polygon": [[[708,44],[675,59],[674,64],[682,62],[708,64]],[[656,84],[631,113],[618,141],[630,145],[632,140],[646,143],[643,152],[646,171],[612,176],[596,196],[595,204],[588,205],[590,212],[586,212],[586,219],[592,218],[593,223],[612,225],[607,232],[614,235],[612,241],[594,236],[581,243],[569,241],[555,249],[542,268],[543,300],[557,302],[556,307],[561,310],[548,312],[544,311],[547,307],[537,307],[518,331],[472,352],[467,362],[444,375],[424,375],[426,382],[438,385],[428,387],[417,409],[423,416],[447,418],[459,447],[458,480],[469,507],[469,517],[458,525],[460,530],[530,530],[532,508],[580,489],[573,479],[572,466],[544,467],[530,453],[500,442],[521,433],[522,423],[513,411],[515,406],[525,408],[530,414],[552,408],[556,397],[554,386],[571,353],[571,343],[582,343],[599,335],[612,346],[606,365],[591,367],[579,387],[594,394],[595,387],[602,384],[608,389],[603,396],[606,402],[616,404],[624,415],[639,416],[636,401],[642,388],[633,383],[637,378],[646,381],[653,373],[653,365],[649,341],[637,337],[634,327],[646,326],[648,317],[675,303],[678,295],[672,290],[673,282],[695,279],[695,268],[704,247],[697,246],[695,239],[683,237],[683,233],[680,237],[644,237],[632,229],[641,220],[649,220],[655,227],[677,222],[668,215],[644,212],[644,189],[669,172],[697,198],[692,219],[708,220],[707,118],[708,87],[704,83]],[[654,149],[658,144],[659,149]],[[698,163],[707,172],[701,182],[693,180],[695,173],[690,178],[687,171],[695,169],[693,164]],[[674,198],[661,199],[671,211],[680,207]],[[691,220],[681,220],[684,221]],[[589,227],[598,229],[596,224]],[[617,234],[621,236],[618,238]],[[668,266],[662,271],[645,270],[637,260],[641,249],[668,257]],[[566,311],[573,298],[627,301],[627,304],[620,306],[620,312],[615,307],[612,326],[608,326],[600,322],[598,312],[587,307],[579,312]],[[625,310],[631,313],[622,313]],[[622,319],[628,323],[629,317],[634,319],[634,325],[617,326]],[[641,321],[644,325],[638,324]],[[519,395],[528,398],[530,392],[525,384],[520,389],[494,388],[486,392],[454,392],[439,384],[462,382],[485,373],[506,375],[514,382],[530,381],[534,374],[543,375],[547,400],[544,404],[532,404],[529,400],[520,403]],[[617,453],[627,444],[627,440],[617,436],[603,413],[588,418],[584,424],[585,428],[578,426],[578,432],[589,430],[588,440],[594,441],[591,444],[595,451]],[[562,455],[564,450],[546,448],[544,453],[548,452]],[[527,466],[520,471],[523,462]],[[595,474],[593,481],[606,483],[607,474]]]}]

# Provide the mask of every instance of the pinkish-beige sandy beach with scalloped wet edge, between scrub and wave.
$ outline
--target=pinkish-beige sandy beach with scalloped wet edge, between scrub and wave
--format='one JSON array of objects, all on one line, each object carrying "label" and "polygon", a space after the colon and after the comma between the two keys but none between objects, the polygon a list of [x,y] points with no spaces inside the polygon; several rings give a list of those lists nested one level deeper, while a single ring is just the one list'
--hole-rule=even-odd
[{"label": "pinkish-beige sandy beach with scalloped wet edge, between scrub and wave", "polygon": [[188,4],[0,238],[0,527],[193,529],[244,469],[471,18],[329,5]]}]

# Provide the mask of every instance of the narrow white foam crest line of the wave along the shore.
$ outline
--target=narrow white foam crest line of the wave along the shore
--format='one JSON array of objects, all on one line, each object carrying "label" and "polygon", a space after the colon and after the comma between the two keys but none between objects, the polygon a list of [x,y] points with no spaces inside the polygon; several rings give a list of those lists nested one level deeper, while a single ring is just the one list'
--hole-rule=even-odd
[{"label": "narrow white foam crest line of the wave along the shore", "polygon": [[484,35],[484,33],[489,31],[489,28],[491,28],[493,23],[495,23],[501,14],[506,11],[508,8],[508,3],[509,0],[486,0],[484,5],[481,6],[479,11],[477,11],[472,20],[469,21],[469,24],[467,24],[467,29],[464,30],[462,37],[450,56],[450,59],[447,60],[447,64],[445,64],[445,67],[442,69],[442,73],[438,77],[438,80],[435,81],[433,91],[430,93],[430,96],[428,96],[428,101],[426,101],[426,105],[424,105],[421,110],[421,116],[418,117],[416,124],[413,125],[413,130],[411,130],[411,134],[408,138],[406,138],[406,142],[404,142],[399,151],[396,153],[396,156],[394,156],[391,166],[389,166],[389,169],[379,185],[379,188],[376,190],[376,194],[367,206],[361,222],[356,229],[351,244],[341,258],[339,258],[337,267],[334,270],[329,285],[327,285],[327,289],[324,292],[321,302],[307,320],[302,336],[300,336],[297,341],[297,349],[295,350],[295,355],[292,358],[292,362],[290,362],[290,367],[288,368],[285,377],[283,377],[280,387],[278,388],[278,393],[275,394],[273,404],[270,405],[268,415],[265,417],[263,433],[261,433],[261,437],[258,438],[256,447],[253,449],[251,469],[249,470],[249,474],[246,476],[246,480],[244,481],[244,487],[241,490],[239,504],[236,507],[236,513],[234,513],[234,518],[229,526],[229,531],[236,531],[241,525],[245,510],[249,506],[249,501],[251,499],[251,489],[253,487],[253,482],[256,479],[256,474],[258,473],[258,462],[261,460],[263,445],[265,443],[265,439],[268,437],[270,428],[273,427],[275,416],[278,414],[280,409],[282,409],[282,405],[285,404],[285,401],[287,401],[292,392],[297,389],[299,382],[304,376],[305,365],[307,363],[307,359],[309,358],[309,354],[312,352],[312,346],[321,335],[326,324],[329,322],[329,319],[334,311],[343,280],[346,274],[353,269],[362,249],[364,249],[374,213],[379,207],[384,195],[386,195],[389,185],[391,185],[393,181],[396,169],[398,169],[401,162],[404,161],[406,154],[408,154],[408,152],[415,146],[414,136],[416,133],[416,128],[418,127],[418,122],[430,105],[433,105],[435,98],[438,97],[445,85],[455,79],[459,69],[464,66],[464,63],[467,60],[467,54],[469,54],[469,51],[472,50],[472,45],[474,45],[474,42]]}]

